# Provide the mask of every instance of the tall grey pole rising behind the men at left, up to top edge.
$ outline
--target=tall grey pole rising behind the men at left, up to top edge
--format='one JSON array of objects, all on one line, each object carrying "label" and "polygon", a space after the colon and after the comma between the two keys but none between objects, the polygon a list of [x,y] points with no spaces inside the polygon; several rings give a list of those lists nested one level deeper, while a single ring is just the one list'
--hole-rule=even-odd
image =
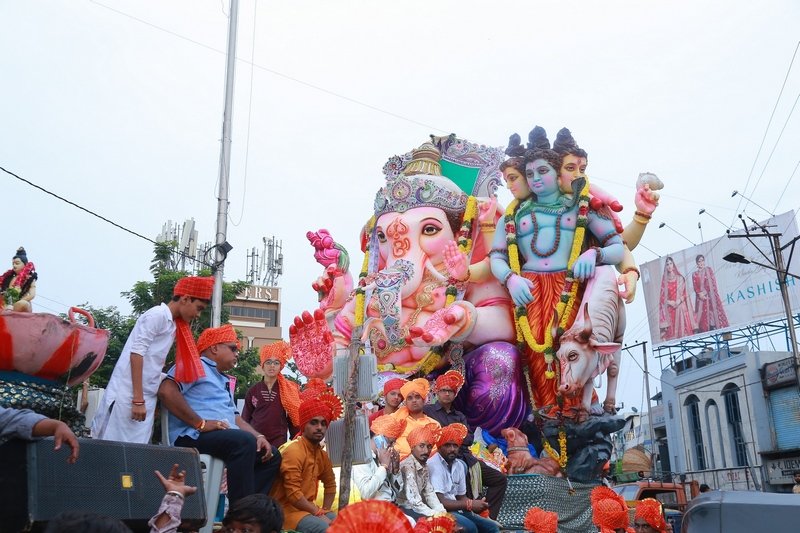
[{"label": "tall grey pole rising behind the men at left, up to top edge", "polygon": [[225,256],[230,250],[228,232],[228,177],[231,170],[231,117],[233,115],[233,81],[236,64],[236,25],[239,0],[231,0],[228,24],[228,55],[225,70],[225,110],[222,115],[222,150],[219,158],[219,192],[217,194],[217,238],[214,247],[214,292],[211,295],[211,327],[219,327],[222,315],[222,277]]}]

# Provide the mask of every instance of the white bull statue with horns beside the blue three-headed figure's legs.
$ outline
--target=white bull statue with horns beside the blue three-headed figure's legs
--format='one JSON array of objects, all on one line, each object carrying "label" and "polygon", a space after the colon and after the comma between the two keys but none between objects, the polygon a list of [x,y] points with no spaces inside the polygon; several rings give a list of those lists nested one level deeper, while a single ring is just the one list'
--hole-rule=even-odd
[{"label": "white bull statue with horns beside the blue three-headed figure's legs", "polygon": [[[557,352],[561,363],[559,390],[567,396],[583,394],[586,413],[614,413],[625,333],[625,307],[619,294],[617,276],[611,266],[601,266],[589,280],[581,300],[582,313],[561,335]],[[590,318],[591,311],[591,318]],[[554,324],[558,323],[558,317]],[[553,332],[555,337],[555,331]],[[593,380],[608,371],[608,390],[602,409],[592,409]]]}]

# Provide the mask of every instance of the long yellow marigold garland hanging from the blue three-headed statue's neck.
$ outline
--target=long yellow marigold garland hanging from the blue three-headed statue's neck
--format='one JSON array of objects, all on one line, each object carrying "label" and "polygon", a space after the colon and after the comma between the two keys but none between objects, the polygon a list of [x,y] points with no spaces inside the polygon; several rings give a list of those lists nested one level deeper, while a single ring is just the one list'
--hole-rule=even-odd
[{"label": "long yellow marigold garland hanging from the blue three-headed statue's neck", "polygon": [[[519,247],[517,245],[517,223],[515,220],[519,202],[514,200],[509,204],[505,212],[505,229],[506,229],[506,242],[508,244],[508,260],[509,267],[514,274],[521,274],[522,268],[519,258]],[[570,250],[569,260],[567,261],[567,276],[564,280],[564,289],[561,292],[558,304],[556,305],[556,312],[560,317],[558,324],[558,332],[562,333],[566,327],[572,309],[575,307],[575,300],[578,295],[578,283],[573,277],[572,266],[578,260],[581,254],[581,247],[583,246],[583,239],[586,235],[586,226],[588,225],[589,214],[589,180],[586,180],[580,196],[578,197],[578,220],[575,228],[575,237],[572,241],[572,249]],[[544,360],[547,363],[547,370],[545,377],[553,379],[556,377],[556,372],[553,370],[553,361],[555,360],[555,350],[553,348],[553,331],[552,322],[547,325],[544,330],[544,342],[538,343],[531,331],[530,323],[528,322],[528,310],[526,307],[517,306],[517,339],[522,337],[526,344],[535,352],[541,352],[544,355]]]}]

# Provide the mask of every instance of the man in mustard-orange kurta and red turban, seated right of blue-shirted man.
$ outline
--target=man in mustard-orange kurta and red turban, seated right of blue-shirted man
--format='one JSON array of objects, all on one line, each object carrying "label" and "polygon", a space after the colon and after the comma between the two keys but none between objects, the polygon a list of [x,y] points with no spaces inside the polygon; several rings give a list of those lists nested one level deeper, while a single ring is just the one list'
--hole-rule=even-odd
[{"label": "man in mustard-orange kurta and red turban, seated right of blue-shirted man", "polygon": [[[331,512],[336,496],[336,478],[327,452],[320,442],[328,424],[342,413],[341,401],[330,392],[300,404],[301,435],[282,452],[281,476],[275,481],[270,495],[283,507],[283,529],[302,533],[327,530],[334,518]],[[322,507],[314,501],[322,481],[325,487]]]}]

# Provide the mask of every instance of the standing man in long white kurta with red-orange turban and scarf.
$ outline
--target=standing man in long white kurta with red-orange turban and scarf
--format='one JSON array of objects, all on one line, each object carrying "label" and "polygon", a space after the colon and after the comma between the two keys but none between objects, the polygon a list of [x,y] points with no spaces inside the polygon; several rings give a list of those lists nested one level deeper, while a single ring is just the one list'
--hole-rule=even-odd
[{"label": "standing man in long white kurta with red-orange turban and scarf", "polygon": [[[188,328],[210,303],[213,278],[187,277],[175,285],[169,303],[147,310],[136,321],[92,420],[92,437],[148,444],[158,386],[178,327]],[[186,337],[184,332],[183,338]],[[191,333],[189,333],[191,338]],[[194,339],[191,339],[194,346]],[[186,344],[186,343],[184,343]],[[181,357],[181,343],[178,358]],[[187,351],[187,350],[184,350]]]}]

